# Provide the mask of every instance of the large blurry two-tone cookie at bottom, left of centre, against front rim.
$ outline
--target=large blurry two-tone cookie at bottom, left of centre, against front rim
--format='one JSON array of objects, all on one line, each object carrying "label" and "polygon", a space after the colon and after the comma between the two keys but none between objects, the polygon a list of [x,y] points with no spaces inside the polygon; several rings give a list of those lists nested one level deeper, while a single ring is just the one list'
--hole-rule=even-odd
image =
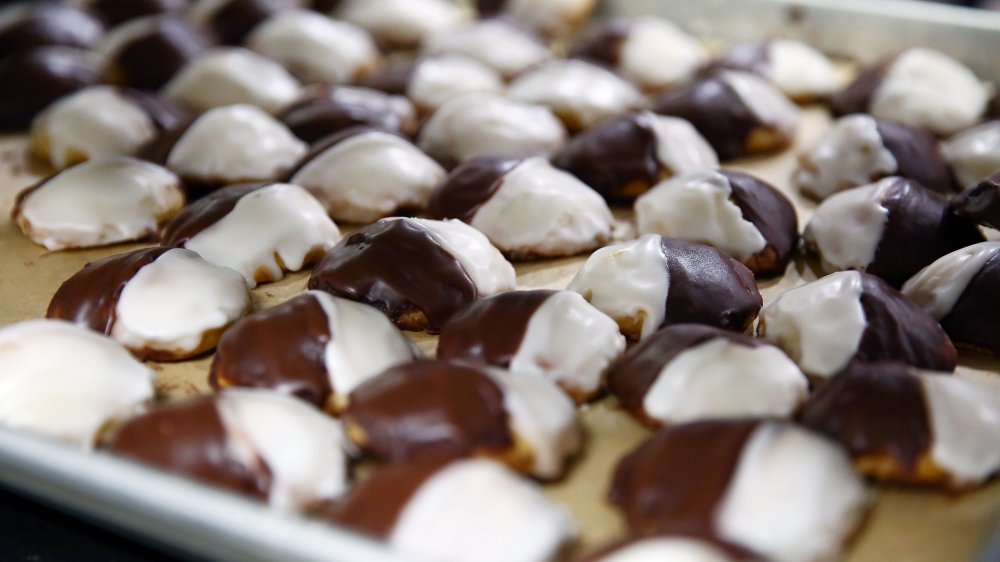
[{"label": "large blurry two-tone cookie at bottom, left of centre, against front rim", "polygon": [[327,517],[428,560],[546,562],[576,536],[566,510],[537,484],[486,459],[382,467]]}]

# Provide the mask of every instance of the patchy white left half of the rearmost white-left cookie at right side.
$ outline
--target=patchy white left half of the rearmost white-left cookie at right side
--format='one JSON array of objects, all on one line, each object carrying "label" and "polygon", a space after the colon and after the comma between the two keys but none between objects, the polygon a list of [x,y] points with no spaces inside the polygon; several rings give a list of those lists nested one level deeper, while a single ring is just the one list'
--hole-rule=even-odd
[{"label": "patchy white left half of the rearmost white-left cookie at right side", "polygon": [[803,192],[825,199],[891,175],[897,169],[896,158],[882,143],[875,119],[857,114],[838,119],[799,155],[792,181]]}]

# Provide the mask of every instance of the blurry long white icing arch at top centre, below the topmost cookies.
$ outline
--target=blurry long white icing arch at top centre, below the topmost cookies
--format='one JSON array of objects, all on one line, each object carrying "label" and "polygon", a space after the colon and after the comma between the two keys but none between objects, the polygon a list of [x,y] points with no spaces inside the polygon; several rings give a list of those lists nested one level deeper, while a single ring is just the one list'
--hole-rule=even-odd
[{"label": "blurry long white icing arch at top centre, below the topmost cookies", "polygon": [[424,42],[424,53],[463,55],[507,78],[552,58],[538,39],[499,19],[478,20],[431,35]]}]

